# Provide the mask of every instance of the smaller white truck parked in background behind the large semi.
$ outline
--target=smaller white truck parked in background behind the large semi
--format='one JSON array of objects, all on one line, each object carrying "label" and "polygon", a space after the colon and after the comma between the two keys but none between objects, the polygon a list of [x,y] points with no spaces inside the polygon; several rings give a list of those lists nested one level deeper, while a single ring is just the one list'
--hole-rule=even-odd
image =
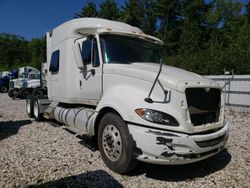
[{"label": "smaller white truck parked in background behind the large semi", "polygon": [[[41,89],[41,74],[34,67],[21,67],[18,69],[18,78],[12,79],[9,83],[9,97],[27,98],[34,91]],[[43,93],[38,93],[43,95]]]}]

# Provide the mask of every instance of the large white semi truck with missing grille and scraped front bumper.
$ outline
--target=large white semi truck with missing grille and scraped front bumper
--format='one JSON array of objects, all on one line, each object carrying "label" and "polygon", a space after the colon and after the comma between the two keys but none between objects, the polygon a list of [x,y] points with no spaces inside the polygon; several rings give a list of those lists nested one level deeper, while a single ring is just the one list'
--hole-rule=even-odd
[{"label": "large white semi truck with missing grille and scraped front bumper", "polygon": [[186,164],[220,152],[229,125],[222,88],[161,61],[163,42],[125,23],[68,21],[47,33],[48,99],[27,99],[30,117],[93,136],[117,173],[137,160]]}]

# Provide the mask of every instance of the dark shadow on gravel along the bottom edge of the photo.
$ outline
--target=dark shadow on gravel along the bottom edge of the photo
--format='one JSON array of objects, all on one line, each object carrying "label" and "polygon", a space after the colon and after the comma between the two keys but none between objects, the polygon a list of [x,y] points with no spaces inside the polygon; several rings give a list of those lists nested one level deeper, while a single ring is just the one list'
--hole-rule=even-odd
[{"label": "dark shadow on gravel along the bottom edge of the photo", "polygon": [[[42,181],[42,180],[41,180]],[[87,173],[64,177],[59,180],[47,182],[39,185],[31,185],[28,187],[123,187],[116,179],[109,175],[106,171],[96,170]]]}]

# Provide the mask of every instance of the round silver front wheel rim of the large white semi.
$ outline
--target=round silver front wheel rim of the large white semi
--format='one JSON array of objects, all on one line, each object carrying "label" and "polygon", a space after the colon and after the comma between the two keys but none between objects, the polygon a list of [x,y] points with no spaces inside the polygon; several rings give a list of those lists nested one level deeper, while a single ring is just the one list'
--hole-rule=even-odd
[{"label": "round silver front wheel rim of the large white semi", "polygon": [[122,153],[121,134],[114,125],[107,125],[102,134],[102,147],[106,156],[116,161]]}]

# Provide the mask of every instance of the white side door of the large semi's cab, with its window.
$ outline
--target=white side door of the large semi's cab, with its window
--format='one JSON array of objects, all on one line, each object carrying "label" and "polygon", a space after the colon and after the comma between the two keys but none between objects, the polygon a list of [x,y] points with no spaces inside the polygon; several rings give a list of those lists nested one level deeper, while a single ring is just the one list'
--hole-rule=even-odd
[{"label": "white side door of the large semi's cab, with its window", "polygon": [[102,95],[102,65],[95,37],[86,37],[82,40],[81,55],[84,63],[79,82],[81,98],[97,102]]}]

